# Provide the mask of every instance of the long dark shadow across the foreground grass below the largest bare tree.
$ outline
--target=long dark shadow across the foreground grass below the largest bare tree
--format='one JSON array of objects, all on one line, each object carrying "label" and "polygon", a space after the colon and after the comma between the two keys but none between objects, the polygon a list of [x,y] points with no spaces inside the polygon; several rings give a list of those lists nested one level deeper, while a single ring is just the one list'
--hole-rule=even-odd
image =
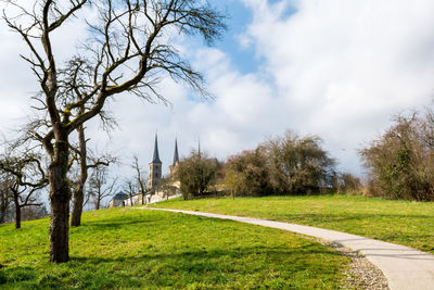
[{"label": "long dark shadow across the foreground grass below the largest bare tree", "polygon": [[256,277],[255,283],[260,286],[261,279],[275,272],[286,279],[305,272],[312,277],[335,275],[342,266],[336,256],[340,254],[315,244],[146,252],[119,257],[72,256],[67,264],[43,268],[2,268],[0,288],[186,288],[194,283],[226,288],[248,280],[250,276]]}]

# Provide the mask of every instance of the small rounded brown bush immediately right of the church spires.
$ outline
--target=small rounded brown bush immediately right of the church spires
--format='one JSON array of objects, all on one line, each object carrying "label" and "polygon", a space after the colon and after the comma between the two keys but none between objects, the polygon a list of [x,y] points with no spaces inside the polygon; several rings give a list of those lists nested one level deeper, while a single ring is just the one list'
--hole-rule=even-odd
[{"label": "small rounded brown bush immediately right of the church spires", "polygon": [[197,197],[206,192],[216,181],[220,167],[216,159],[197,151],[183,159],[177,171],[183,198],[187,200],[190,196]]}]

